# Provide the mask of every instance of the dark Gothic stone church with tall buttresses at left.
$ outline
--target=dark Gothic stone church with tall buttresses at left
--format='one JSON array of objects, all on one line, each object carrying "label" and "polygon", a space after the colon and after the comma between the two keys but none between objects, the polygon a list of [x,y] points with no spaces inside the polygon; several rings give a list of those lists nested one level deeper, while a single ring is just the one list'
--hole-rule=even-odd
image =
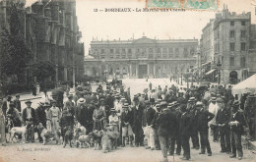
[{"label": "dark Gothic stone church with tall buttresses at left", "polygon": [[56,75],[48,82],[82,80],[84,43],[80,42],[75,0],[38,0],[30,6],[26,6],[26,0],[0,0],[0,19],[6,27],[12,5],[18,9],[20,31],[32,51],[32,60],[20,83],[31,85],[36,81],[30,65],[38,61],[55,65]]}]

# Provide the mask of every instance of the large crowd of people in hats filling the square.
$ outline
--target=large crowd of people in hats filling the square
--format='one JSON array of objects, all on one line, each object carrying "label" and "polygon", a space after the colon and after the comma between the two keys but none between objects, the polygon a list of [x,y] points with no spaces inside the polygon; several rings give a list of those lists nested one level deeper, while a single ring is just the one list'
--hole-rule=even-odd
[{"label": "large crowd of people in hats filling the square", "polygon": [[[1,129],[2,144],[5,145],[5,132],[10,125],[30,125],[26,142],[34,142],[37,125],[51,132],[60,130],[62,136],[66,127],[73,128],[77,123],[84,126],[88,134],[111,125],[120,133],[119,146],[129,144],[131,147],[161,150],[162,161],[166,162],[167,154],[180,155],[181,149],[181,159],[191,159],[190,138],[192,149],[200,149],[199,154],[207,151],[208,156],[212,156],[211,128],[214,142],[221,140],[222,153],[230,158],[238,155],[239,160],[243,157],[241,135],[247,119],[253,119],[248,112],[253,109],[253,106],[248,106],[252,94],[245,99],[244,112],[241,112],[241,103],[232,95],[231,86],[192,85],[184,90],[172,84],[161,90],[160,85],[153,88],[150,82],[149,88],[133,97],[130,88],[125,90],[122,85],[118,90],[109,84],[105,89],[99,84],[96,91],[92,91],[90,84],[78,85],[76,89],[75,94],[64,93],[63,107],[57,107],[56,100],[52,99],[39,102],[33,109],[32,101],[28,100],[22,111],[20,96],[17,95],[15,100],[8,96],[0,111],[0,126],[6,128]],[[251,131],[253,129],[251,126]],[[37,134],[39,142],[42,142],[39,132]]]}]

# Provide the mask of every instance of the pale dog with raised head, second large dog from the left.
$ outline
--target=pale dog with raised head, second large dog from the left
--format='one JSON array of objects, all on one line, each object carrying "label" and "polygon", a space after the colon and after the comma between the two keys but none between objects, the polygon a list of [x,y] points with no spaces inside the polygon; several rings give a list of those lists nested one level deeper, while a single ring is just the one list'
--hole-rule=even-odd
[{"label": "pale dog with raised head, second large dog from the left", "polygon": [[60,142],[60,132],[52,133],[50,131],[47,131],[41,124],[38,125],[38,131],[42,137],[42,144],[45,145],[50,138],[55,137],[56,144],[59,144]]}]

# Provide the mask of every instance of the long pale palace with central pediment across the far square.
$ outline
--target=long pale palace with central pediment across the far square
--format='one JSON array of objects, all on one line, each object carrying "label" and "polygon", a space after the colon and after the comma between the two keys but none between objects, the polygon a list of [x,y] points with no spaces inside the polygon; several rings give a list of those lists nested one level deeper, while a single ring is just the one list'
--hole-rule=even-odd
[{"label": "long pale palace with central pediment across the far square", "polygon": [[87,76],[108,78],[168,78],[196,64],[197,39],[93,40],[85,59]]}]

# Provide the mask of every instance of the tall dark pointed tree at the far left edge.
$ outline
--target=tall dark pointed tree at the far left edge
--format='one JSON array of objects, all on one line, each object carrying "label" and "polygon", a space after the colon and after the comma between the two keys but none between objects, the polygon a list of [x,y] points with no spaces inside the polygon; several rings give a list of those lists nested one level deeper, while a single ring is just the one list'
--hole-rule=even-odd
[{"label": "tall dark pointed tree at the far left edge", "polygon": [[24,73],[27,64],[32,58],[31,49],[27,46],[21,33],[21,24],[18,11],[13,4],[11,7],[10,30],[6,26],[1,27],[0,68],[1,74],[7,77]]}]

